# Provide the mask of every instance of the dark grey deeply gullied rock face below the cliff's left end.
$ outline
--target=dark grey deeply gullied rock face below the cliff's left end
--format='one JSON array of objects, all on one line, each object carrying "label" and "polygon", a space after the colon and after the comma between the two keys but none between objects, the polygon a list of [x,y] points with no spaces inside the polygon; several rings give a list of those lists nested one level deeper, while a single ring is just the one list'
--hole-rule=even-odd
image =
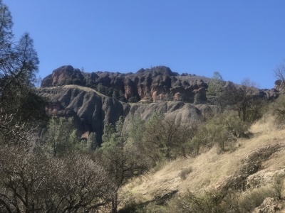
[{"label": "dark grey deeply gullied rock face below the cliff's left end", "polygon": [[130,106],[111,97],[101,97],[93,91],[78,88],[40,88],[38,94],[48,98],[46,111],[55,116],[75,118],[80,133],[95,132],[98,140],[104,124],[115,124],[120,116],[126,116]]}]

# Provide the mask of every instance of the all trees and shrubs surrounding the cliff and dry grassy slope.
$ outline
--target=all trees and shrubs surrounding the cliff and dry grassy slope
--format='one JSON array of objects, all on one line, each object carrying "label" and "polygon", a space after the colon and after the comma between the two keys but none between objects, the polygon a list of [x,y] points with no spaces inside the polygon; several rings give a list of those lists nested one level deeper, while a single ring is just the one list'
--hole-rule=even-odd
[{"label": "all trees and shrubs surrounding the cliff and dry grassy slope", "polygon": [[[148,121],[130,116],[130,126],[125,128],[121,117],[116,124],[105,125],[99,147],[95,133],[90,133],[87,141],[80,141],[72,119],[52,117],[41,143],[31,143],[33,128],[45,115],[46,104],[34,92],[38,56],[28,33],[14,42],[11,14],[1,0],[0,23],[0,212],[106,212],[108,204],[111,212],[118,212],[119,190],[130,179],[145,174],[151,166],[198,155],[202,148],[215,144],[227,151],[261,116],[263,104],[254,83],[244,80],[239,87],[232,84],[222,90],[224,81],[219,72],[214,72],[207,95],[220,104],[223,113],[199,127],[153,114]],[[279,77],[283,80],[282,73]],[[71,77],[74,84],[90,83],[82,82],[76,74]],[[103,84],[97,89],[125,101],[121,90]],[[204,102],[199,95],[195,96],[196,104]],[[165,99],[172,99],[172,94]],[[275,104],[276,121],[283,124],[283,97]],[[191,172],[188,166],[180,178],[187,178]],[[266,196],[283,198],[283,178],[276,177],[272,189],[252,190],[239,201],[229,192],[188,192],[172,200],[168,208],[177,213],[250,212]],[[143,212],[166,209],[151,203],[140,208]]]}]

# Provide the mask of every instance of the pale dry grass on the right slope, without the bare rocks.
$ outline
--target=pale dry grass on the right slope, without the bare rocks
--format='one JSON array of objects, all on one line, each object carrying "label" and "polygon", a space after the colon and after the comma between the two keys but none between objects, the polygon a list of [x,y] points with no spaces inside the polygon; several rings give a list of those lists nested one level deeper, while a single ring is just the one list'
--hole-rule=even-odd
[{"label": "pale dry grass on the right slope, without the bare rocks", "polygon": [[[275,129],[271,117],[261,119],[252,126],[250,131],[253,137],[237,141],[237,149],[232,153],[218,154],[217,148],[212,148],[196,158],[173,160],[156,173],[149,174],[148,178],[144,178],[139,184],[131,182],[126,185],[125,190],[131,188],[136,200],[145,201],[150,200],[157,192],[179,190],[179,193],[183,193],[187,190],[217,188],[241,167],[242,159],[246,159],[254,151],[276,143],[285,145],[285,130]],[[264,172],[284,169],[284,153],[285,151],[281,150],[271,155],[271,158],[263,164]],[[182,180],[180,173],[188,167],[192,168],[192,172]]]}]

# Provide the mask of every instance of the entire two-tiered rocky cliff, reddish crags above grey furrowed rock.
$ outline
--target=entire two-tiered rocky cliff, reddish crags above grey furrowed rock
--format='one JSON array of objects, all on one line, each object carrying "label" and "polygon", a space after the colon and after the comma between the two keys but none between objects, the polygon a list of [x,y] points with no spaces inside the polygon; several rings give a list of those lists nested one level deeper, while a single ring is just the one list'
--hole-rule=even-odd
[{"label": "entire two-tiered rocky cliff, reddish crags above grey furrowed rock", "polygon": [[[179,75],[164,66],[121,74],[86,73],[68,65],[45,77],[38,94],[48,98],[48,114],[73,116],[80,133],[95,132],[100,142],[104,125],[115,124],[120,116],[128,121],[129,113],[140,114],[147,120],[159,112],[186,123],[201,120],[203,114],[212,114],[213,106],[204,104],[207,82],[209,78]],[[227,82],[227,87],[239,86]],[[266,99],[279,93],[276,89],[255,90],[257,96]]]}]

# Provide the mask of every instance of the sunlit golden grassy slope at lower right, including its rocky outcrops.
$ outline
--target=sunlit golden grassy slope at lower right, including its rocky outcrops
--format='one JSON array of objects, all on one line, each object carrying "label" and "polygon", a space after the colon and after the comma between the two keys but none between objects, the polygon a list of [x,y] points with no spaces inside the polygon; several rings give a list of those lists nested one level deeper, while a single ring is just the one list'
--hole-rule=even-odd
[{"label": "sunlit golden grassy slope at lower right, including its rocky outcrops", "polygon": [[[161,200],[171,200],[172,195],[189,190],[196,193],[232,187],[247,195],[257,188],[271,187],[276,175],[285,177],[285,130],[273,126],[272,119],[258,121],[250,129],[252,137],[239,139],[232,152],[220,154],[214,147],[196,158],[172,160],[156,172],[128,183],[122,196],[124,200],[128,195],[136,202],[161,204]],[[191,172],[183,179],[181,172],[187,168]]]}]

